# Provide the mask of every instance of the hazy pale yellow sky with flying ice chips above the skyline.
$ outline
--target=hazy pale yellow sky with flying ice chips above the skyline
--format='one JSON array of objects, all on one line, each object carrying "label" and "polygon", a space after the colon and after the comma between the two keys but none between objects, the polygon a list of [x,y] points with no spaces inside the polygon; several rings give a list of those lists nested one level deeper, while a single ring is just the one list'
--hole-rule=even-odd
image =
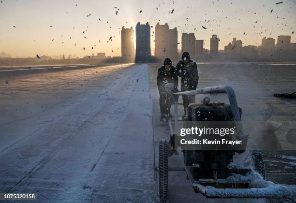
[{"label": "hazy pale yellow sky with flying ice chips above the skyline", "polygon": [[[194,32],[196,39],[204,40],[205,48],[209,47],[212,34],[217,34],[221,40],[219,49],[224,49],[233,37],[242,40],[243,45],[260,45],[263,37],[277,39],[278,35],[291,35],[291,41],[296,43],[296,33],[292,34],[296,29],[296,0],[283,0],[276,5],[280,1],[2,0],[0,52],[13,57],[36,54],[85,56],[97,52],[120,56],[119,31],[122,26],[134,28],[138,21],[153,26],[152,52],[152,31],[157,22],[177,27],[178,42],[181,42],[182,32]],[[113,40],[107,43],[110,36]]]}]

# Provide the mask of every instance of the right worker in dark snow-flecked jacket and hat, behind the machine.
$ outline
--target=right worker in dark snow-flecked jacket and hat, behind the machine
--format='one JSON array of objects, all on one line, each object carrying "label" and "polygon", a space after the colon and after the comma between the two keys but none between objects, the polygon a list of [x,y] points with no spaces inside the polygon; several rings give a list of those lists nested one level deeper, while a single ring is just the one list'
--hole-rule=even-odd
[{"label": "right worker in dark snow-flecked jacket and hat, behind the machine", "polygon": [[[196,89],[199,79],[197,65],[190,59],[188,52],[184,52],[182,54],[182,60],[178,62],[176,69],[178,76],[181,77],[181,91],[190,91]],[[195,102],[195,95],[183,95],[182,97],[184,113],[186,115],[186,108],[190,103]]]}]

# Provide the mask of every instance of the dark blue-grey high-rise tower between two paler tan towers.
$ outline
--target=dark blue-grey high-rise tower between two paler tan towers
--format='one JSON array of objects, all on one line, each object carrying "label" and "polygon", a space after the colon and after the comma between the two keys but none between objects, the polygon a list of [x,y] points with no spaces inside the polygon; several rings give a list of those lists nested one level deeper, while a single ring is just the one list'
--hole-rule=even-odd
[{"label": "dark blue-grey high-rise tower between two paler tan towers", "polygon": [[147,60],[151,56],[150,26],[146,24],[136,25],[136,61]]}]

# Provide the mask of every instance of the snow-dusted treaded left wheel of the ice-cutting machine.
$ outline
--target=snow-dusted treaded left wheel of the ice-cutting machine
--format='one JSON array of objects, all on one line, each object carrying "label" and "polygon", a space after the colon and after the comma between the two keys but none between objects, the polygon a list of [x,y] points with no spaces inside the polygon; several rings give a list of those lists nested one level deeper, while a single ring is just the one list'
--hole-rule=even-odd
[{"label": "snow-dusted treaded left wheel of the ice-cutting machine", "polygon": [[167,164],[167,145],[166,140],[159,141],[159,164],[158,164],[158,191],[160,202],[163,203],[167,198],[167,183],[168,183],[168,164]]}]

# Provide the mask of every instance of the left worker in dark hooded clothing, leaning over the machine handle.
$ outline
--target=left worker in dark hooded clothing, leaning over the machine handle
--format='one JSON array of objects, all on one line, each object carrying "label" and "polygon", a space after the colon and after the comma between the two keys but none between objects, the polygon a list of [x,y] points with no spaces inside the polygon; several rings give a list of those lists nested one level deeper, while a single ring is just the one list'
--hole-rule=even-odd
[{"label": "left worker in dark hooded clothing, leaning over the machine handle", "polygon": [[161,111],[161,120],[168,120],[171,117],[171,98],[166,94],[164,85],[168,83],[174,84],[174,92],[178,92],[178,73],[172,61],[165,58],[163,66],[158,69],[157,73],[157,87],[159,91],[159,105]]}]

